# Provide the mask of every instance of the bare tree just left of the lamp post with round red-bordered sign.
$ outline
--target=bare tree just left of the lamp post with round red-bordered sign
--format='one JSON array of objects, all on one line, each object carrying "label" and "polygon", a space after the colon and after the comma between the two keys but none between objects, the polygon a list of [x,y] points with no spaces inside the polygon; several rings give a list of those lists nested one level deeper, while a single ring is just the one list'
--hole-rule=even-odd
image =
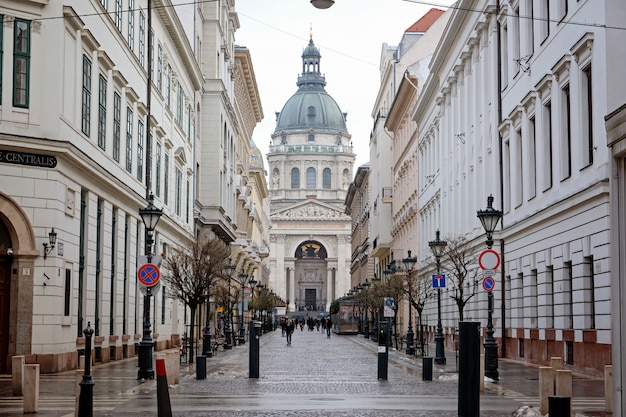
[{"label": "bare tree just left of the lamp post with round red-bordered sign", "polygon": [[[464,320],[463,310],[469,300],[476,295],[478,288],[477,257],[467,238],[456,236],[450,238],[443,254],[443,261],[447,264],[450,274],[454,300],[459,310],[459,321]],[[465,292],[468,291],[469,294]]]}]

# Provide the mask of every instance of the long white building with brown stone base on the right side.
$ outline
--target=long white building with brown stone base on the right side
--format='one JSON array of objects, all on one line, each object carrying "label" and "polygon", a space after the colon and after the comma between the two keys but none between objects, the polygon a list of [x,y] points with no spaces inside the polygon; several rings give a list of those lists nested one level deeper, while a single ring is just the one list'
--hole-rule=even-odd
[{"label": "long white building with brown stone base on the right side", "polygon": [[[603,375],[612,361],[604,116],[623,104],[626,69],[610,47],[623,31],[604,25],[619,26],[626,11],[617,1],[457,6],[414,111],[422,230],[465,236],[478,254],[476,211],[493,195],[503,211],[494,236],[500,355],[560,356],[568,369]],[[425,273],[429,240],[420,234]],[[467,320],[486,324],[486,299],[471,300]],[[455,306],[443,311],[453,328]]]}]

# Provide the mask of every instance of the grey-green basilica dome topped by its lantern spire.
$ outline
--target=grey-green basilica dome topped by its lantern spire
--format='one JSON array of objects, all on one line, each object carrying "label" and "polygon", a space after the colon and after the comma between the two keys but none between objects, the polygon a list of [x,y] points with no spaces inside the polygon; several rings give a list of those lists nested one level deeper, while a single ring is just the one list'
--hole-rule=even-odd
[{"label": "grey-green basilica dome topped by its lantern spire", "polygon": [[324,88],[326,80],[320,72],[320,59],[319,49],[311,38],[302,53],[298,91],[277,113],[275,134],[307,129],[348,133],[346,114]]}]

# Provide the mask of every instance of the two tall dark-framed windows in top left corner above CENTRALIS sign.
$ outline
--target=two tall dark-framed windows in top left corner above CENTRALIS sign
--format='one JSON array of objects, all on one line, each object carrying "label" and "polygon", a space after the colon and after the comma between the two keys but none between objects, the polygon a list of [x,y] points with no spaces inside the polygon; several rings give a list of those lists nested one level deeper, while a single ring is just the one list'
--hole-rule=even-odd
[{"label": "two tall dark-framed windows in top left corner above CENTRALIS sign", "polygon": [[[0,104],[4,62],[4,20],[0,15]],[[28,107],[30,73],[30,21],[15,19],[13,23],[13,106]]]}]

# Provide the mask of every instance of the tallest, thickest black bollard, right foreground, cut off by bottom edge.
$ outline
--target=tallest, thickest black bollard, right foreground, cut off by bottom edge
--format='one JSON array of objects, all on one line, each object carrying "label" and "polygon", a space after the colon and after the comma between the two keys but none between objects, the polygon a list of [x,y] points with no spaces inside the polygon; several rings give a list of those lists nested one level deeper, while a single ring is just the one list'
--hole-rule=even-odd
[{"label": "tallest, thickest black bollard, right foreground, cut off by bottom edge", "polygon": [[459,322],[459,417],[480,414],[479,322]]}]

